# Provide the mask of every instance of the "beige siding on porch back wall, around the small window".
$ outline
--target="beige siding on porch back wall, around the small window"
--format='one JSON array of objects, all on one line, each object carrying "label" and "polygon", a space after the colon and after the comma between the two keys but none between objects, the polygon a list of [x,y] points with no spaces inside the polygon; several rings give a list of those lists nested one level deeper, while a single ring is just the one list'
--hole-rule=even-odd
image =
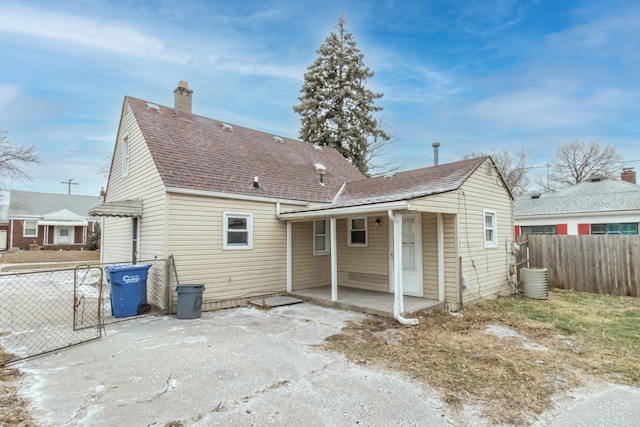
[{"label": "beige siding on porch back wall, around the small window", "polygon": [[[353,216],[358,218],[358,216]],[[375,220],[380,219],[376,225]],[[386,212],[367,216],[367,247],[347,245],[347,219],[336,221],[338,285],[389,292],[389,218]]]}]

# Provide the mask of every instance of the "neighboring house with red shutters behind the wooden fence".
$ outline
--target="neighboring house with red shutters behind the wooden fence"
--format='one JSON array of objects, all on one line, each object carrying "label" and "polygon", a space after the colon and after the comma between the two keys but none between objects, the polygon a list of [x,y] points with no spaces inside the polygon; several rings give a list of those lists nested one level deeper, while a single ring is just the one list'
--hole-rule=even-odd
[{"label": "neighboring house with red shutters behind the wooden fence", "polygon": [[638,234],[640,185],[633,169],[622,179],[594,176],[571,187],[518,196],[515,235]]}]

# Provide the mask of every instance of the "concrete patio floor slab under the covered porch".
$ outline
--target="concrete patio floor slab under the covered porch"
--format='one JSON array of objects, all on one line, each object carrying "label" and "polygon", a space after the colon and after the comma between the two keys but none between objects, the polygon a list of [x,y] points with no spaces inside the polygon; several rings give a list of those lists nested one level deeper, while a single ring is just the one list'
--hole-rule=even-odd
[{"label": "concrete patio floor slab under the covered porch", "polygon": [[[292,297],[301,298],[325,307],[341,308],[361,313],[393,318],[393,294],[364,289],[338,287],[338,300],[331,300],[331,286],[319,286],[289,292]],[[405,295],[404,312],[435,310],[444,307],[444,303]]]}]

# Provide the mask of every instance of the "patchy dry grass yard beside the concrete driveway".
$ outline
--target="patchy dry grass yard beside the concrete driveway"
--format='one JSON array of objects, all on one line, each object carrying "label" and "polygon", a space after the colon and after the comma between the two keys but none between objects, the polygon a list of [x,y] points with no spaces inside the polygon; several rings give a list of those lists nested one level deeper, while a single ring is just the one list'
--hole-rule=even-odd
[{"label": "patchy dry grass yard beside the concrete driveway", "polygon": [[[461,317],[427,313],[415,327],[368,318],[325,345],[356,363],[407,373],[438,390],[452,409],[478,405],[492,423],[523,425],[549,409],[554,396],[580,385],[585,374],[640,382],[637,326],[627,331],[625,323],[638,324],[640,301],[576,295],[501,298],[466,308]],[[489,325],[513,329],[547,350],[488,333]]]}]

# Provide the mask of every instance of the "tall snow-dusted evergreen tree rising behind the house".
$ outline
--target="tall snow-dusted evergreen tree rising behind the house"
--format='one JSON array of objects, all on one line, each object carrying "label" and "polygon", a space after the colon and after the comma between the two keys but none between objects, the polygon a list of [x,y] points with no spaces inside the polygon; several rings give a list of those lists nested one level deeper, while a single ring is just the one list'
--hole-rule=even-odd
[{"label": "tall snow-dusted evergreen tree rising behind the house", "polygon": [[301,116],[303,141],[336,148],[368,175],[375,151],[390,139],[373,117],[382,110],[374,104],[382,93],[365,87],[373,71],[346,29],[344,12],[336,30],[316,51],[318,58],[304,75],[301,103],[293,111]]}]

